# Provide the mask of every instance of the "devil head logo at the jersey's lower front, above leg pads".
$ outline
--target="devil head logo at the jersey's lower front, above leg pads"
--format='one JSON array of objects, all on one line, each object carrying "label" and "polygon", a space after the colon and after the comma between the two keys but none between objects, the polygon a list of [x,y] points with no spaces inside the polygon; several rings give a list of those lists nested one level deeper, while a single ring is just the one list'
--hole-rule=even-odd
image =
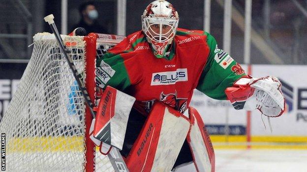
[{"label": "devil head logo at the jersey's lower front, above leg pads", "polygon": [[174,107],[174,109],[178,110],[180,113],[184,113],[186,109],[187,98],[177,98],[177,91],[175,91],[175,94],[167,95],[162,92],[160,95],[160,101]]}]

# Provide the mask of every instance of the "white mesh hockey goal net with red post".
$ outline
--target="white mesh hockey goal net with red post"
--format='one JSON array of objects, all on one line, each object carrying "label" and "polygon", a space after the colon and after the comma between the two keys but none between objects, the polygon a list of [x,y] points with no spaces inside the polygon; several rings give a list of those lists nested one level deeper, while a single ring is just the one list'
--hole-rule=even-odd
[{"label": "white mesh hockey goal net with red post", "polygon": [[[108,158],[88,139],[92,116],[54,35],[38,33],[33,38],[31,60],[0,123],[6,137],[6,171],[112,172]],[[94,59],[123,37],[62,39],[93,100]]]}]

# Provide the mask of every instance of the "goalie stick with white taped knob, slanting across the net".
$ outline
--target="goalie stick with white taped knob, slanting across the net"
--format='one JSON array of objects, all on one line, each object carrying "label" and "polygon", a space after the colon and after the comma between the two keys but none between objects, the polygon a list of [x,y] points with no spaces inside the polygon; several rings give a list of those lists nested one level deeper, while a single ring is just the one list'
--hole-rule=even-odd
[{"label": "goalie stick with white taped knob, slanting across the net", "polygon": [[[58,31],[58,28],[54,22],[54,16],[52,14],[44,17],[44,20],[45,22],[48,22],[52,32],[54,33],[58,43],[59,43],[59,46],[60,46],[60,49],[61,51],[63,52],[63,55],[65,56],[67,62],[68,62],[68,65],[69,65],[69,68],[72,70],[72,73],[78,83],[78,86],[81,90],[81,93],[91,111],[91,114],[92,114],[92,117],[95,118],[96,114],[95,112],[93,111],[93,103],[89,97],[89,94],[85,88],[85,85],[84,83],[82,82],[81,78],[81,74],[78,73],[71,57],[68,55],[68,50],[66,49],[66,46],[64,45],[63,43],[63,40],[61,39],[61,36],[59,34],[59,31]],[[109,157],[109,160],[111,161],[111,164],[115,170],[115,172],[129,172],[124,160],[123,160],[123,157],[121,155],[121,153],[119,152],[119,149],[116,148],[116,147],[112,147],[111,151],[113,153],[109,153],[108,154],[108,157]],[[113,155],[113,156],[112,156]]]}]

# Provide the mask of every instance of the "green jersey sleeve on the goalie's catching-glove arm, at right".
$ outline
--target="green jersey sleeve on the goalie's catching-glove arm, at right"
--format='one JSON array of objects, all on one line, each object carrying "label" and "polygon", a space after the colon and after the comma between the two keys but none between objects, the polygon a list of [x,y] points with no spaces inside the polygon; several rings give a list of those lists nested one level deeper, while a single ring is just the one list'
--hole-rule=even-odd
[{"label": "green jersey sleeve on the goalie's catching-glove arm, at right", "polygon": [[227,99],[225,89],[241,77],[244,70],[227,52],[218,49],[215,38],[207,32],[207,44],[210,49],[207,63],[199,78],[196,89],[207,96],[219,100]]}]

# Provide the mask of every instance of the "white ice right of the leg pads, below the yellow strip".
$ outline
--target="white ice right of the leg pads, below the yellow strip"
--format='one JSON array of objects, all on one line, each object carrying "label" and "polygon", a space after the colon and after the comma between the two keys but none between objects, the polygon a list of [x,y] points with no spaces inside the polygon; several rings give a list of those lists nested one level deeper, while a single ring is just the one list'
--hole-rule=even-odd
[{"label": "white ice right of the leg pads, below the yellow strip", "polygon": [[216,149],[215,172],[307,172],[307,150]]}]

